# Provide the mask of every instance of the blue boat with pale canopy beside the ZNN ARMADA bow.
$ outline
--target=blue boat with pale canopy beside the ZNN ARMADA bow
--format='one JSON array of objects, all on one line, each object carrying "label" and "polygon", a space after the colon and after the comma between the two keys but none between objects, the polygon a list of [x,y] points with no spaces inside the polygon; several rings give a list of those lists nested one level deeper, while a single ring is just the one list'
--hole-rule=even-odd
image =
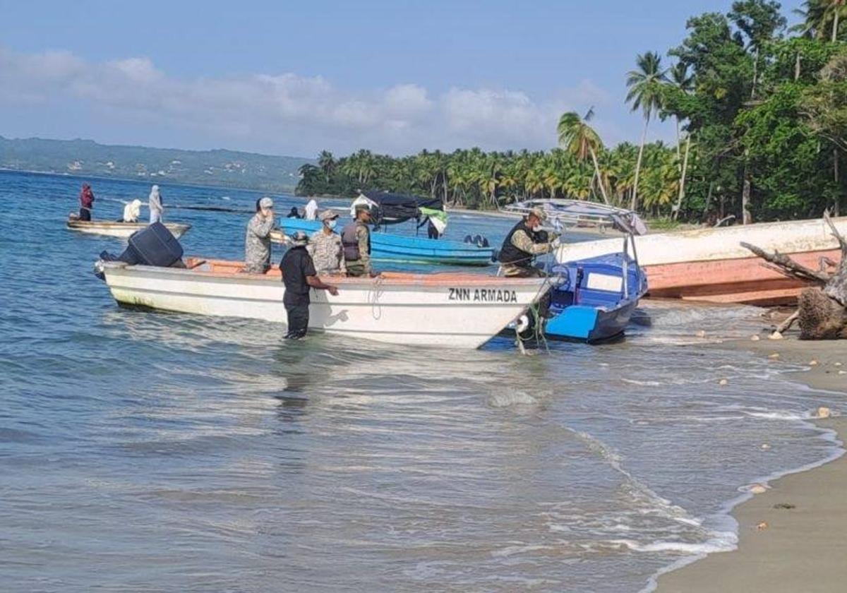
[{"label": "blue boat with pale canopy beside the ZNN ARMADA bow", "polygon": [[[587,222],[586,217],[592,217],[593,224],[605,224],[624,234],[620,252],[552,266],[550,316],[543,325],[545,337],[591,343],[623,335],[639,299],[647,292],[647,276],[635,251],[635,235],[646,232],[644,224],[620,208],[569,200],[540,202],[518,203],[513,211],[545,208],[554,223],[580,226]],[[533,320],[525,316],[516,329],[525,339],[533,335],[533,325]]]}]

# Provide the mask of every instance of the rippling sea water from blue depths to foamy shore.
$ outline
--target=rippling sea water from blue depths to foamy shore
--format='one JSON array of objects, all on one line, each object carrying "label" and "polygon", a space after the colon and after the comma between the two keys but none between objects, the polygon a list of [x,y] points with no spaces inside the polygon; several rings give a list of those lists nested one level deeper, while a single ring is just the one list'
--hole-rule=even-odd
[{"label": "rippling sea water from blue depths to foamy shore", "polygon": [[[809,418],[844,396],[719,343],[756,309],[645,303],[623,342],[525,357],[287,343],[118,308],[91,264],[120,241],[64,229],[79,185],[0,173],[0,590],[639,591],[732,549],[745,486],[841,452]],[[107,219],[148,190],[92,185]],[[249,214],[166,215],[186,252],[242,256]]]}]

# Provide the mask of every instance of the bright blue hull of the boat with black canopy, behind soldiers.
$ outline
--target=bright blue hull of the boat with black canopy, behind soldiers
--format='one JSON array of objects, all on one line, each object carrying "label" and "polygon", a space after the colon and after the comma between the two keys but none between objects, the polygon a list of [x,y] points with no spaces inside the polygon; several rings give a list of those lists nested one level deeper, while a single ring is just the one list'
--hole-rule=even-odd
[{"label": "bright blue hull of the boat with black canopy, behind soldiers", "polygon": [[[321,228],[321,223],[318,220],[282,219],[280,227],[286,234],[295,230],[313,233]],[[371,257],[392,262],[487,266],[494,259],[494,249],[479,247],[475,243],[373,232]]]}]

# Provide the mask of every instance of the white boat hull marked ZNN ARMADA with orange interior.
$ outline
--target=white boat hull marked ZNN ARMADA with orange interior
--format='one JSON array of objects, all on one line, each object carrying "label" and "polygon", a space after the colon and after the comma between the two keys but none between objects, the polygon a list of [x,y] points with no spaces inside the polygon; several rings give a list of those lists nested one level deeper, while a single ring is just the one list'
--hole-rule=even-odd
[{"label": "white boat hull marked ZNN ARMADA with orange interior", "polygon": [[[114,299],[182,313],[285,324],[280,271],[245,274],[244,263],[188,258],[186,268],[102,262]],[[543,279],[481,274],[327,276],[338,296],[313,291],[310,330],[394,344],[477,348],[544,293]]]}]

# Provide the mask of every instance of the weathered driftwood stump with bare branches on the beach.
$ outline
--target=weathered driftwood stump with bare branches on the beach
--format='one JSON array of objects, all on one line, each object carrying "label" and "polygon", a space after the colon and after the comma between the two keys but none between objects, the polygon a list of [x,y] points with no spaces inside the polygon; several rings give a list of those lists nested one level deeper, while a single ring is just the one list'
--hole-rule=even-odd
[{"label": "weathered driftwood stump with bare branches on the beach", "polygon": [[800,325],[800,340],[838,340],[847,338],[847,241],[835,228],[829,213],[823,213],[833,237],[839,241],[841,261],[834,263],[822,258],[820,269],[806,268],[783,253],[769,253],[741,243],[751,252],[771,264],[780,274],[810,284],[800,292],[797,311],[780,324],[772,337],[780,337],[794,320]]}]

